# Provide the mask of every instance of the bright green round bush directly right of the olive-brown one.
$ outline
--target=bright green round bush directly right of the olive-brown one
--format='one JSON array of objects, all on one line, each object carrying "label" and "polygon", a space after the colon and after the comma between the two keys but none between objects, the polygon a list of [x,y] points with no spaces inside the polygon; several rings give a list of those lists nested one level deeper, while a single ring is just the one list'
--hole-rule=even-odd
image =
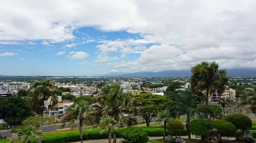
[{"label": "bright green round bush directly right of the olive-brown one", "polygon": [[209,130],[213,129],[212,123],[209,123],[209,129],[207,121],[205,119],[196,119],[189,124],[189,130],[192,135],[207,136]]}]

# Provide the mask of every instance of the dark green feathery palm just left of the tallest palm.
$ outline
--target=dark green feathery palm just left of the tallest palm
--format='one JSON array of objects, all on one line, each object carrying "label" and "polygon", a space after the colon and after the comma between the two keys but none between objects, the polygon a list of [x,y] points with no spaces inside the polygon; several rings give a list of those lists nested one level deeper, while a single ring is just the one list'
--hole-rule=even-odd
[{"label": "dark green feathery palm just left of the tallest palm", "polygon": [[193,98],[191,94],[187,92],[181,92],[177,93],[176,100],[169,104],[169,107],[176,111],[178,118],[180,115],[187,116],[186,129],[188,131],[189,139],[191,138],[189,123],[192,116],[196,112],[205,112],[207,110],[206,108],[196,108],[196,100],[197,99]]}]

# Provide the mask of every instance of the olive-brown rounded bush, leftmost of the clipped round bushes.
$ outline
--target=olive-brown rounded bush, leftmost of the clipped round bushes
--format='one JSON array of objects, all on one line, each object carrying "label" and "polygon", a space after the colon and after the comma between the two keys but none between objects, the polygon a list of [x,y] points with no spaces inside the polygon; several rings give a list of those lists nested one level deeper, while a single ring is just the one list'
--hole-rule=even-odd
[{"label": "olive-brown rounded bush, leftmost of the clipped round bushes", "polygon": [[184,130],[184,125],[180,121],[170,121],[166,128],[171,132],[172,135],[180,135]]}]

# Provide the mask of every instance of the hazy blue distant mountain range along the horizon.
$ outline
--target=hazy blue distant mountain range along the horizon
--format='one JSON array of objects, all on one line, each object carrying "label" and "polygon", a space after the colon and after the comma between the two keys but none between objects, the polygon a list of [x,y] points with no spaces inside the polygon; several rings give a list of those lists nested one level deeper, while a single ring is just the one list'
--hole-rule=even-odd
[{"label": "hazy blue distant mountain range along the horizon", "polygon": [[[256,77],[256,69],[226,69],[228,76],[253,76]],[[190,70],[167,70],[160,72],[139,72],[139,73],[108,73],[100,76],[113,77],[188,77]]]}]

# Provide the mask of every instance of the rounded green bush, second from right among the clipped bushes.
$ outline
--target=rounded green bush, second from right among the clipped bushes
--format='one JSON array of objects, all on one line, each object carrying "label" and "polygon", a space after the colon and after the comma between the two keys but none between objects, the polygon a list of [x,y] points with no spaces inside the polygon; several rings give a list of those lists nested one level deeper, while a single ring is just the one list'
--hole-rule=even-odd
[{"label": "rounded green bush, second from right among the clipped bushes", "polygon": [[236,126],[224,120],[212,121],[215,129],[217,129],[220,137],[234,137],[236,136]]}]

